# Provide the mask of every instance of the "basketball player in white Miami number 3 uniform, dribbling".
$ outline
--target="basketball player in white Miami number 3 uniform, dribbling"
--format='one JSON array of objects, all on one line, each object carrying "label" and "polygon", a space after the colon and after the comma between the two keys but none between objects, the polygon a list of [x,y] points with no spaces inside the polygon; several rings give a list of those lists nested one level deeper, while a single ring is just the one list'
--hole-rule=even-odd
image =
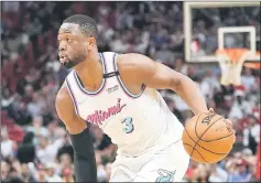
[{"label": "basketball player in white Miami number 3 uniform, dribbling", "polygon": [[73,68],[56,97],[56,110],[75,149],[76,181],[97,181],[88,125],[99,126],[118,146],[111,182],[178,182],[189,162],[183,125],[156,89],[172,89],[195,115],[208,112],[197,85],[135,53],[99,53],[97,24],[72,15],[58,31],[59,62]]}]

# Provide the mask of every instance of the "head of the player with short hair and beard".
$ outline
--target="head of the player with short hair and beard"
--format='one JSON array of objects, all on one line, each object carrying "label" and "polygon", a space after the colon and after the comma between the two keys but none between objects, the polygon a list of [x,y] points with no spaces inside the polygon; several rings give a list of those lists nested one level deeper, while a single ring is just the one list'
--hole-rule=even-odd
[{"label": "head of the player with short hair and beard", "polygon": [[75,14],[65,19],[57,36],[59,62],[67,68],[83,62],[97,49],[97,34],[96,22],[87,15]]}]

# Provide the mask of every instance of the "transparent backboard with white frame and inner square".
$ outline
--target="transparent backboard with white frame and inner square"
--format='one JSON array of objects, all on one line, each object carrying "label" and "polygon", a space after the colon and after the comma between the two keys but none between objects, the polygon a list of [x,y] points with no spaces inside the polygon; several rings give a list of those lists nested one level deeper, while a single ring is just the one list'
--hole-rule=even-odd
[{"label": "transparent backboard with white frame and inner square", "polygon": [[260,51],[260,21],[257,24],[248,21],[258,17],[258,1],[184,2],[186,62],[216,63],[217,50],[233,47],[250,50],[252,54],[247,61],[260,62],[260,55],[255,54]]}]

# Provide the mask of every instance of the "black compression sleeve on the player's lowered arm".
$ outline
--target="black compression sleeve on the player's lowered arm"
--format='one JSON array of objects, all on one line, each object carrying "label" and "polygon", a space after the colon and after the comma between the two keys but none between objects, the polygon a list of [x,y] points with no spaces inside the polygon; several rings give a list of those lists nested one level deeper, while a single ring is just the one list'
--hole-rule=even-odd
[{"label": "black compression sleeve on the player's lowered arm", "polygon": [[74,164],[76,182],[97,182],[97,168],[93,138],[88,129],[70,134],[75,150]]}]

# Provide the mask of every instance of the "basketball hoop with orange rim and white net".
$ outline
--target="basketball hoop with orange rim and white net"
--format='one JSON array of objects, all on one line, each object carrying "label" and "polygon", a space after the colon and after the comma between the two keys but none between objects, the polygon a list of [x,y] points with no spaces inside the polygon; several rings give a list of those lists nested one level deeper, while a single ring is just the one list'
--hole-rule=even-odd
[{"label": "basketball hoop with orange rim and white net", "polygon": [[221,85],[241,85],[243,62],[251,52],[248,49],[224,49],[217,50],[216,55],[221,68]]}]

